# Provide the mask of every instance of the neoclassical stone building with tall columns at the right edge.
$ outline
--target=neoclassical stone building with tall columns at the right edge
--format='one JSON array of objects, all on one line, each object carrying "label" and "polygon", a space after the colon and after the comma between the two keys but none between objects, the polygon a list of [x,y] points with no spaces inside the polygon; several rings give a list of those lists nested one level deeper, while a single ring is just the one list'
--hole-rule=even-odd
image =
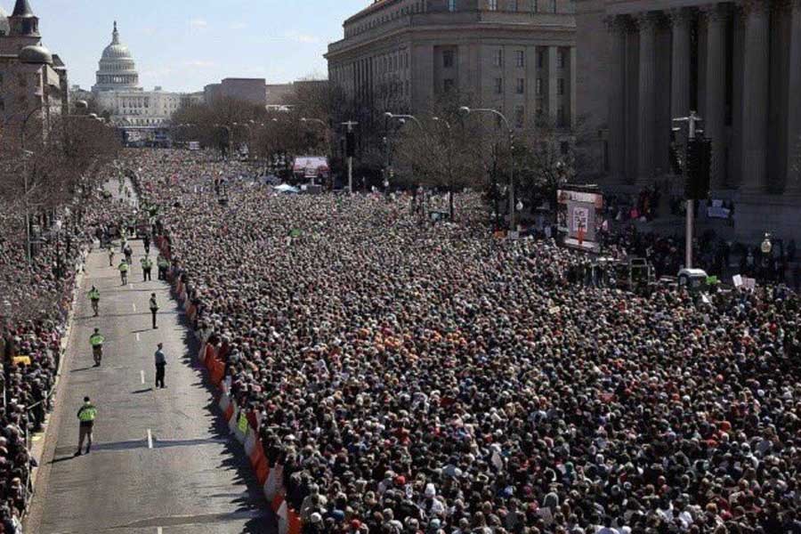
[{"label": "neoclassical stone building with tall columns at the right edge", "polygon": [[801,0],[576,0],[576,23],[603,183],[670,181],[671,117],[697,110],[737,236],[801,237]]}]

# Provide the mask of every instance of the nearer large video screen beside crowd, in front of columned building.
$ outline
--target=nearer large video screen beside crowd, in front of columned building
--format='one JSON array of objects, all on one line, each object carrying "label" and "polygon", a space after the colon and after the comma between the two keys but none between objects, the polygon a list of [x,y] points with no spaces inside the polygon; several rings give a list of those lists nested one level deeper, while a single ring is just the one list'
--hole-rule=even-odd
[{"label": "nearer large video screen beside crowd, in front of columned building", "polygon": [[601,252],[597,236],[603,225],[603,195],[587,190],[557,190],[556,198],[564,245]]}]

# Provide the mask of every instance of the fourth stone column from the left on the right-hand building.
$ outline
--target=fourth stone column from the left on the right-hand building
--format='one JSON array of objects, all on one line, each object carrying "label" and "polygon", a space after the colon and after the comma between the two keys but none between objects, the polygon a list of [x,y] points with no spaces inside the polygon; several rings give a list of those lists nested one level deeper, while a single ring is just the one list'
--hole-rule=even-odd
[{"label": "fourth stone column from the left on the right-hand building", "polygon": [[726,124],[726,20],[729,12],[722,4],[703,10],[707,26],[707,69],[704,92],[704,134],[712,140],[711,180],[713,188],[725,183]]}]

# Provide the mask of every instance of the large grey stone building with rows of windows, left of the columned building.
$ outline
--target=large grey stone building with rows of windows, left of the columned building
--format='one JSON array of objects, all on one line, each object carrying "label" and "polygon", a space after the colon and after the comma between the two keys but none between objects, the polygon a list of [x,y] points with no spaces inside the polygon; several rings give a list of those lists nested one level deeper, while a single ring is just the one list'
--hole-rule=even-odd
[{"label": "large grey stone building with rows of windows, left of the columned building", "polygon": [[535,118],[568,127],[575,39],[569,0],[378,0],[328,46],[328,79],[357,105],[379,96],[425,112],[457,92],[516,127]]}]

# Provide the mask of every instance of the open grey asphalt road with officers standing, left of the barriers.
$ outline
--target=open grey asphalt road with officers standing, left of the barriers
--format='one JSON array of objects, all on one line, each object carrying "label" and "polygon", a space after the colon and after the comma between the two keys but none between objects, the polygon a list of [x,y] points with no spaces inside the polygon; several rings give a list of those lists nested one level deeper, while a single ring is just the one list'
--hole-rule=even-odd
[{"label": "open grey asphalt road with officers standing, left of the barriers", "polygon": [[[190,353],[198,350],[165,282],[142,282],[134,242],[130,284],[122,287],[105,252],[87,260],[56,413],[44,446],[26,532],[36,534],[274,533],[242,446],[229,437],[211,390]],[[155,254],[155,250],[151,249]],[[118,261],[121,255],[117,247]],[[101,292],[93,318],[86,293]],[[148,301],[157,295],[158,329]],[[89,336],[105,336],[93,368]],[[164,343],[166,389],[154,389],[153,353]],[[88,395],[99,413],[89,455],[77,449],[77,409]]]}]

